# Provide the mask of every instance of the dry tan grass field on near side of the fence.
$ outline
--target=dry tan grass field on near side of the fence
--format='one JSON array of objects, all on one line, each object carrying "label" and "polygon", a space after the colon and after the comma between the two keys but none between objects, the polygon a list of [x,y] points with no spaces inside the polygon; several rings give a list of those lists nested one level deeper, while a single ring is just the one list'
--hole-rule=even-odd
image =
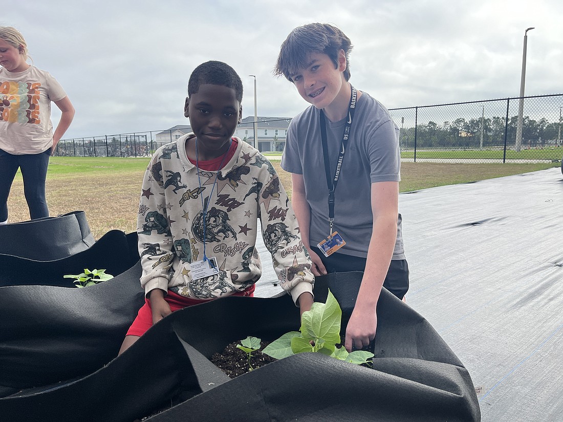
[{"label": "dry tan grass field on near side of the fence", "polygon": [[[51,215],[86,212],[96,239],[111,229],[135,231],[142,176],[149,158],[52,157],[47,174],[47,201]],[[272,161],[291,196],[291,175]],[[468,183],[559,166],[546,164],[402,163],[401,192]],[[322,179],[324,181],[324,176]],[[18,174],[8,198],[8,221],[29,220]]]}]

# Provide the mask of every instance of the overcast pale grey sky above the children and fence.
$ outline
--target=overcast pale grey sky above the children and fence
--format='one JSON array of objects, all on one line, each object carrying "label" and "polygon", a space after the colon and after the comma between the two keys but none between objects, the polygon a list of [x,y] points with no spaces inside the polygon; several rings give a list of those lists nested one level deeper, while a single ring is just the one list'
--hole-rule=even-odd
[{"label": "overcast pale grey sky above the children and fence", "polygon": [[243,117],[254,114],[250,74],[258,115],[293,117],[307,103],[272,68],[288,33],[311,22],[350,37],[352,84],[387,108],[519,96],[530,26],[525,94],[560,94],[562,18],[561,0],[21,0],[1,7],[0,25],[19,29],[33,64],[65,88],[70,138],[189,124],[187,80],[207,60],[239,73]]}]

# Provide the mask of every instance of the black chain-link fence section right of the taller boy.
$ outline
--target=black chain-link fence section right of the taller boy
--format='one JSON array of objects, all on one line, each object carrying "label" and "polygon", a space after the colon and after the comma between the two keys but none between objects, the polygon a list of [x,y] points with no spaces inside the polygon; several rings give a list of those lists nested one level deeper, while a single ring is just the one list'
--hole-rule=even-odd
[{"label": "black chain-link fence section right of the taller boy", "polygon": [[562,109],[558,94],[389,112],[400,128],[403,161],[530,163],[561,161]]}]

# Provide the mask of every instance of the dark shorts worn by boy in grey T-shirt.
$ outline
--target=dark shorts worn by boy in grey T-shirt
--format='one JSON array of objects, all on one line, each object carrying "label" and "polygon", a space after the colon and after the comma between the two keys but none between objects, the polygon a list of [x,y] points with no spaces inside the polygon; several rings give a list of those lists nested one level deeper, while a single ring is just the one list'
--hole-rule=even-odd
[{"label": "dark shorts worn by boy in grey T-shirt", "polygon": [[[363,272],[365,270],[365,258],[339,254],[338,252],[334,252],[334,254],[327,257],[323,255],[323,252],[318,247],[311,246],[311,249],[319,255],[329,273]],[[403,299],[409,290],[409,264],[406,262],[406,259],[391,260],[383,287],[399,297],[399,299]]]}]

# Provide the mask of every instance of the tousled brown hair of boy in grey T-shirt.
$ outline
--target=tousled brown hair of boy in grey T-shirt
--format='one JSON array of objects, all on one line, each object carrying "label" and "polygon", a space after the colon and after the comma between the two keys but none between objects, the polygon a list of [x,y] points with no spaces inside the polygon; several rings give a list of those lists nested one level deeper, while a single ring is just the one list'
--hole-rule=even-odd
[{"label": "tousled brown hair of boy in grey T-shirt", "polygon": [[344,77],[350,79],[350,38],[342,30],[330,24],[307,24],[293,29],[280,47],[278,61],[274,67],[274,74],[284,75],[293,82],[291,74],[298,69],[305,68],[309,56],[314,53],[326,54],[338,68],[338,53],[344,51],[346,55],[346,69]]}]

